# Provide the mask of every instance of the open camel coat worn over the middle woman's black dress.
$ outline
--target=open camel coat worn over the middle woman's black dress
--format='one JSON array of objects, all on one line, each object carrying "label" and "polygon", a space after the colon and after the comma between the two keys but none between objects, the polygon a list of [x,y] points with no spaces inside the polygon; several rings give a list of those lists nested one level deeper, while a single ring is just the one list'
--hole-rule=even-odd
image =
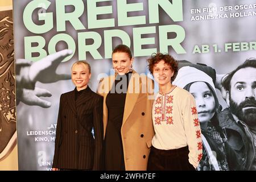
[{"label": "open camel coat worn over the middle woman's black dress", "polygon": [[[97,89],[97,93],[104,97],[104,137],[108,123],[106,96],[112,88],[114,80],[114,75],[102,78]],[[154,137],[151,113],[153,102],[154,82],[146,75],[139,75],[133,71],[127,88],[125,111],[121,127],[123,155],[127,171],[147,169],[151,141]]]}]

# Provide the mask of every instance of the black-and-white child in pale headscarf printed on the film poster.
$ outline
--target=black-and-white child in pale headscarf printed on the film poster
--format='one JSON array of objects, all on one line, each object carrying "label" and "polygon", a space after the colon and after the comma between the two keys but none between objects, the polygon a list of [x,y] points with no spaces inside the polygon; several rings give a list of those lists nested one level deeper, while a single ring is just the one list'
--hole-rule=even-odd
[{"label": "black-and-white child in pale headscarf printed on the film poster", "polygon": [[203,141],[203,158],[197,170],[232,169],[229,163],[233,163],[233,151],[226,143],[225,129],[218,124],[217,113],[221,105],[218,104],[212,78],[199,69],[187,66],[179,69],[173,84],[188,90],[196,100]]}]

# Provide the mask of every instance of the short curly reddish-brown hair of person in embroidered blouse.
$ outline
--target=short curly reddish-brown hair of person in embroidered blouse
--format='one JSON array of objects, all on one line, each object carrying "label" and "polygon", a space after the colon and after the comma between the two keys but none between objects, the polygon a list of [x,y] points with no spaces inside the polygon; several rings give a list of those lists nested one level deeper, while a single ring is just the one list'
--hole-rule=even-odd
[{"label": "short curly reddish-brown hair of person in embroidered blouse", "polygon": [[151,57],[147,59],[148,62],[148,69],[150,73],[153,75],[153,69],[155,64],[158,64],[160,60],[163,60],[164,63],[170,65],[172,71],[174,71],[174,76],[171,78],[171,82],[174,81],[175,77],[177,76],[177,71],[178,71],[178,63],[172,57],[171,55],[168,55],[166,53],[152,53]]}]

